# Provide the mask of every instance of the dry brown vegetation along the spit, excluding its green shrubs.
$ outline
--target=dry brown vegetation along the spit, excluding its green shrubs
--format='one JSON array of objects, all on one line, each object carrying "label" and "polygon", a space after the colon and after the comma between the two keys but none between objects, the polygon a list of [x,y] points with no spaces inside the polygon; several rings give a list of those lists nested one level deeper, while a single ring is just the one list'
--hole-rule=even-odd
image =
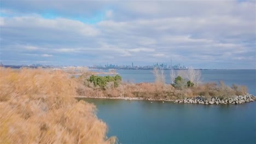
[{"label": "dry brown vegetation along the spit, excluding its green shrubs", "polygon": [[[79,78],[79,88],[77,92],[80,96],[86,97],[121,97],[121,98],[143,98],[154,100],[176,100],[183,98],[193,98],[197,96],[204,96],[206,98],[217,97],[220,99],[232,97],[235,95],[245,95],[247,89],[245,86],[233,85],[232,88],[220,82],[204,83],[194,87],[174,88],[172,85],[161,81],[161,72],[154,71],[156,75],[155,83],[121,83],[119,87],[108,87],[101,89],[99,87],[90,86],[86,77]],[[88,77],[88,76],[87,76]],[[86,85],[82,83],[86,82]]]}]

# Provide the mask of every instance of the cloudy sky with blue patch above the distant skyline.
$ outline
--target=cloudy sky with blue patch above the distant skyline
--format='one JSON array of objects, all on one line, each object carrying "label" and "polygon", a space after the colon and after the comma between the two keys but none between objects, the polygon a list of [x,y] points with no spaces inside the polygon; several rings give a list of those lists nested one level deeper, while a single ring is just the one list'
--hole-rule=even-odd
[{"label": "cloudy sky with blue patch above the distant skyline", "polygon": [[256,69],[255,1],[0,1],[4,65]]}]

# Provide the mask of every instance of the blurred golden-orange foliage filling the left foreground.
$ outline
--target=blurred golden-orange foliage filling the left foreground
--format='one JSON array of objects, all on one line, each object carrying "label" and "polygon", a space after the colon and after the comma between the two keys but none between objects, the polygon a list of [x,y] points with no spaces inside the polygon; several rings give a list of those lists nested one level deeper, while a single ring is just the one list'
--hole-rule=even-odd
[{"label": "blurred golden-orange foliage filling the left foreground", "polygon": [[62,71],[0,69],[0,143],[114,143]]}]

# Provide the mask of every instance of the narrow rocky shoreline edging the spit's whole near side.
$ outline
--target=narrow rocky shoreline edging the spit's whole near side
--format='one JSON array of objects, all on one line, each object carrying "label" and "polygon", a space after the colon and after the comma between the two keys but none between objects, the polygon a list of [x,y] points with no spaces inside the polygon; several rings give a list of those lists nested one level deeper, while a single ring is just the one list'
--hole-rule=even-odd
[{"label": "narrow rocky shoreline edging the spit's whole near side", "polygon": [[124,99],[124,100],[149,100],[149,101],[172,101],[174,103],[179,104],[205,104],[205,105],[219,105],[219,104],[244,104],[256,101],[256,97],[254,97],[252,94],[246,94],[246,95],[238,95],[229,97],[226,99],[219,99],[216,97],[212,98],[205,98],[203,96],[198,96],[194,98],[184,98],[184,99],[153,99],[153,98],[141,98],[141,97],[88,97],[88,96],[77,96],[76,98],[98,98],[98,99]]}]

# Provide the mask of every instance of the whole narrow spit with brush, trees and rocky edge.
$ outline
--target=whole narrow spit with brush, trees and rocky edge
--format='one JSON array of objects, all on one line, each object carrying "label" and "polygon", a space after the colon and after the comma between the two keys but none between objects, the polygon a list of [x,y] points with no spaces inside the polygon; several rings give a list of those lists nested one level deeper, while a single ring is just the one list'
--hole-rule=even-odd
[{"label": "whole narrow spit with brush, trees and rocky edge", "polygon": [[[164,70],[153,69],[154,83],[122,82],[119,75],[99,76],[87,71],[75,79],[78,98],[173,101],[183,104],[243,104],[256,101],[246,86],[223,81],[201,83],[201,71],[195,69],[171,70],[172,83],[165,83]],[[74,77],[73,77],[74,78]]]}]

